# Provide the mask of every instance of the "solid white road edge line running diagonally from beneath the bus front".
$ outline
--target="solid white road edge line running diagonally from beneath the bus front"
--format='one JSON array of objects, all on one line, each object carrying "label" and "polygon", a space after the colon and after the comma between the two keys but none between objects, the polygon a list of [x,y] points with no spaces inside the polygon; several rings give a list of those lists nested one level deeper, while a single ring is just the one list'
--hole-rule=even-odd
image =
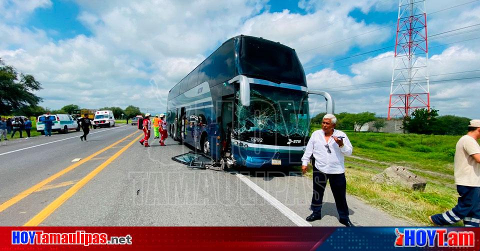
[{"label": "solid white road edge line running diagonally from beneath the bus front", "polygon": [[302,217],[298,216],[294,211],[292,211],[290,208],[286,207],[284,204],[282,204],[278,199],[270,195],[268,192],[263,190],[260,186],[255,184],[253,181],[248,179],[247,177],[243,176],[241,173],[236,173],[235,174],[243,183],[248,185],[252,190],[254,190],[256,193],[258,193],[260,196],[262,196],[266,201],[268,201],[271,205],[273,205],[276,209],[278,209],[283,215],[288,217],[293,223],[295,223],[297,226],[311,226],[310,223],[308,223],[306,220],[304,220]]}]

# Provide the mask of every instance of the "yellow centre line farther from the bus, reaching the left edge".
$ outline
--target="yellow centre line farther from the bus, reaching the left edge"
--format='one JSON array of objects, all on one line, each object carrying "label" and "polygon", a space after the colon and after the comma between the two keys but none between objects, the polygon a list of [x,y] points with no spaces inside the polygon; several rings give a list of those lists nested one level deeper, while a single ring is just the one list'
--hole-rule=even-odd
[{"label": "yellow centre line farther from the bus, reaching the left edge", "polygon": [[97,152],[89,155],[89,156],[86,157],[86,158],[83,158],[82,160],[80,160],[80,161],[78,161],[78,162],[75,162],[74,164],[71,164],[70,166],[66,167],[65,169],[63,169],[63,170],[61,170],[61,171],[59,171],[59,172],[57,172],[57,173],[49,176],[48,178],[43,179],[42,181],[38,182],[37,184],[31,186],[30,188],[28,188],[28,189],[26,189],[26,190],[18,193],[17,195],[11,197],[10,199],[8,199],[7,201],[3,202],[3,203],[0,205],[0,212],[4,211],[6,208],[10,207],[11,205],[15,204],[16,202],[20,201],[20,200],[23,199],[24,197],[30,195],[32,192],[38,190],[40,187],[44,186],[45,184],[49,183],[50,181],[52,181],[52,180],[58,178],[59,176],[61,176],[61,175],[65,174],[65,173],[73,170],[75,167],[77,167],[77,166],[83,164],[84,162],[90,160],[90,159],[93,158],[94,156],[96,156],[96,155],[98,155],[98,154],[100,154],[100,153],[108,150],[109,148],[111,148],[111,147],[113,147],[113,146],[115,146],[115,145],[123,142],[123,140],[125,140],[126,138],[130,137],[131,135],[133,135],[133,134],[135,134],[135,133],[137,133],[137,132],[135,131],[135,132],[129,134],[128,136],[126,136],[126,137],[124,137],[124,138],[122,138],[122,139],[120,139],[120,140],[118,140],[118,141],[110,144],[109,146],[107,146],[107,147],[105,147],[105,148],[103,148],[103,149],[101,149],[101,150],[99,150],[99,151],[97,151]]}]

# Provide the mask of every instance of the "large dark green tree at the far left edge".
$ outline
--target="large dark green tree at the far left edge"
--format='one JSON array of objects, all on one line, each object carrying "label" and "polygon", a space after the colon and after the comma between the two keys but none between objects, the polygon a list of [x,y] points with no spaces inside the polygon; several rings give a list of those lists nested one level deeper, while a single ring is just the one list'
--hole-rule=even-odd
[{"label": "large dark green tree at the far left edge", "polygon": [[32,91],[39,90],[40,82],[30,74],[16,71],[0,58],[0,110],[4,114],[23,106],[37,105],[42,98]]}]

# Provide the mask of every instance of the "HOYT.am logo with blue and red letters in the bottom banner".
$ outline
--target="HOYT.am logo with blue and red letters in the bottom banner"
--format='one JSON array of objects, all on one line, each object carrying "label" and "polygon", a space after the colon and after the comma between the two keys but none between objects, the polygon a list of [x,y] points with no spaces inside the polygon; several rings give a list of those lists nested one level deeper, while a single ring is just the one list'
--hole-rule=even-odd
[{"label": "HOYT.am logo with blue and red letters in the bottom banner", "polygon": [[405,247],[471,247],[475,244],[473,231],[447,231],[446,228],[395,228],[395,246]]}]

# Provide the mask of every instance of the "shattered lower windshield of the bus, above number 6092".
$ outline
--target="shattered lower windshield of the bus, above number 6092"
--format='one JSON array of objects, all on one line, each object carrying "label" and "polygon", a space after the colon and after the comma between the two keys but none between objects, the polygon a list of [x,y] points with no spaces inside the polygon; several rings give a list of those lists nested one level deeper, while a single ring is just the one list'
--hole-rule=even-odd
[{"label": "shattered lower windshield of the bus, above number 6092", "polygon": [[[239,92],[236,92],[239,99]],[[237,126],[234,134],[253,136],[281,135],[300,137],[308,134],[308,95],[304,91],[251,85],[250,105],[236,103]]]}]

